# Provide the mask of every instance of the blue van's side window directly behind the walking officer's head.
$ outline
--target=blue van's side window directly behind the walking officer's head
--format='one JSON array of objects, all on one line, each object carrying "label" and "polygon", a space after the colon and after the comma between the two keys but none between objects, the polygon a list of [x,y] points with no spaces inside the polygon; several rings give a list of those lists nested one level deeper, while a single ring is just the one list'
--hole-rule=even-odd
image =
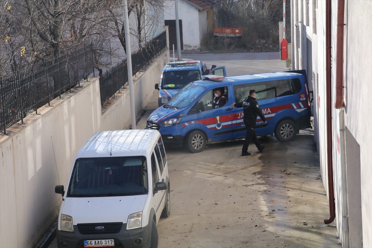
[{"label": "blue van's side window directly behind the walking officer's head", "polygon": [[264,100],[270,99],[275,96],[274,89],[270,82],[250,83],[250,84],[237,84],[233,86],[235,102],[240,103],[244,98],[249,96],[250,90],[256,90],[256,99]]}]

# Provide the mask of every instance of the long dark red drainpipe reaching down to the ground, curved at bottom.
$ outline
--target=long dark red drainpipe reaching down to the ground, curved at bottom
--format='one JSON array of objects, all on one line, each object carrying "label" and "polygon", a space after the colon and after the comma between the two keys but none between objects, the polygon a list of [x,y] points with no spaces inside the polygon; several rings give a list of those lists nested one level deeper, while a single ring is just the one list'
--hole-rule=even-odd
[{"label": "long dark red drainpipe reaching down to the ground, curved at bottom", "polygon": [[336,217],[333,187],[333,151],[332,151],[332,72],[331,72],[331,1],[325,1],[325,97],[327,113],[327,175],[329,215],[324,220],[330,224]]}]

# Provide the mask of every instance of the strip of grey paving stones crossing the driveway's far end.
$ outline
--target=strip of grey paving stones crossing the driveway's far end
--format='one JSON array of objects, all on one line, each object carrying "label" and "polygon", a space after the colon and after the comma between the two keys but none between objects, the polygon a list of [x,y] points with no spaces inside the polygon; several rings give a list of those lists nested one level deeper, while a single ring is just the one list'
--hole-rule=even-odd
[{"label": "strip of grey paving stones crossing the driveway's far end", "polygon": [[[172,61],[173,55],[170,60]],[[240,53],[222,53],[222,54],[182,54],[182,59],[195,59],[201,61],[218,60],[256,60],[256,59],[280,59],[280,52],[240,52]]]}]

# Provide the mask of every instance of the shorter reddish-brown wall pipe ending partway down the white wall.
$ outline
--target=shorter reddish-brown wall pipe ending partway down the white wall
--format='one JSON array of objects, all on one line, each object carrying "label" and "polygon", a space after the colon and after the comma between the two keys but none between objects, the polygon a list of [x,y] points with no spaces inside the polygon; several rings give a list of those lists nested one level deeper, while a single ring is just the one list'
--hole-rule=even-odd
[{"label": "shorter reddish-brown wall pipe ending partway down the white wall", "polygon": [[336,101],[334,103],[334,107],[336,109],[340,109],[341,107],[345,106],[343,100],[345,0],[338,0],[337,4]]}]

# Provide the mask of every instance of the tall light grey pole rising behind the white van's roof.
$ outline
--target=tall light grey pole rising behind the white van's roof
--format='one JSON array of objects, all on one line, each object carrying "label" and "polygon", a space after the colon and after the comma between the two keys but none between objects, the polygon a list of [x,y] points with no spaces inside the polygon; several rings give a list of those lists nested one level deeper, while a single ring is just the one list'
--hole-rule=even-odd
[{"label": "tall light grey pole rising behind the white van's roof", "polygon": [[126,62],[128,68],[128,85],[129,85],[129,100],[131,102],[131,119],[132,129],[136,129],[136,114],[134,106],[134,90],[133,90],[133,74],[132,74],[132,57],[131,57],[131,43],[129,37],[129,21],[128,21],[128,2],[123,0],[124,8],[124,28],[125,28],[125,46],[126,46]]}]

